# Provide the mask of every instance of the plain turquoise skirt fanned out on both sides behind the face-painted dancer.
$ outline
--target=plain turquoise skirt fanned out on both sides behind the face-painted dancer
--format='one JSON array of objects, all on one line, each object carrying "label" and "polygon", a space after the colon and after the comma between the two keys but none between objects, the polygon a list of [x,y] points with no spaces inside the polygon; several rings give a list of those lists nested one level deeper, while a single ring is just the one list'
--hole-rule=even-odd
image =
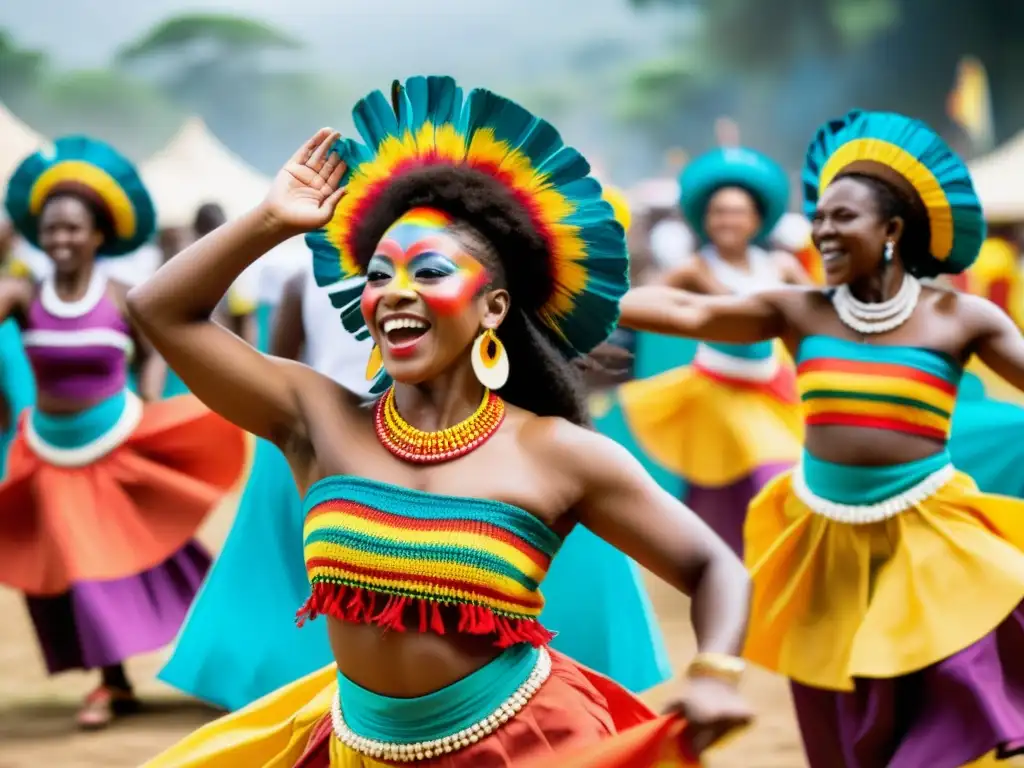
[{"label": "plain turquoise skirt fanned out on both sides behind the face-painted dancer", "polygon": [[[200,591],[160,679],[237,710],[331,663],[325,625],[295,625],[309,596],[302,559],[302,501],[288,462],[259,440],[227,541]],[[588,589],[580,584],[587,581]],[[672,675],[639,567],[578,527],[543,587],[552,646],[634,691]],[[239,612],[238,596],[260,595]]]}]

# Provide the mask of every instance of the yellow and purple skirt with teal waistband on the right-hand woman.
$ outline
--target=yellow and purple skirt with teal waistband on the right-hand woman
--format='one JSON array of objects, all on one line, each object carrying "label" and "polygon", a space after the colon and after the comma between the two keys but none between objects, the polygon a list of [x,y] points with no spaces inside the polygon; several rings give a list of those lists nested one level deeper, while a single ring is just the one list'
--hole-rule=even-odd
[{"label": "yellow and purple skirt with teal waistband on the right-hand woman", "polygon": [[959,768],[1024,750],[1024,502],[948,454],[804,455],[751,504],[744,654],[794,681],[812,768]]}]

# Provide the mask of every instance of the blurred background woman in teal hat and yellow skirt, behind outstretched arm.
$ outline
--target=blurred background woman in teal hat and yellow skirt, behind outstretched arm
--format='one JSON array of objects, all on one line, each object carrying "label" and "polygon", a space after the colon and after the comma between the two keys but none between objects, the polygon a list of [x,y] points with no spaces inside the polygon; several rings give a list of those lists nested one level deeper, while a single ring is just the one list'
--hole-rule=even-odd
[{"label": "blurred background woman in teal hat and yellow skirt, behind outstretched arm", "polygon": [[[666,285],[728,296],[809,282],[792,254],[754,245],[772,231],[790,195],[773,161],[742,147],[716,150],[690,163],[679,184],[683,214],[703,245],[665,275]],[[642,340],[638,347],[642,355]],[[708,341],[692,365],[624,384],[618,403],[632,441],[681,480],[687,506],[741,554],[746,505],[800,457],[790,361],[771,341]]]}]

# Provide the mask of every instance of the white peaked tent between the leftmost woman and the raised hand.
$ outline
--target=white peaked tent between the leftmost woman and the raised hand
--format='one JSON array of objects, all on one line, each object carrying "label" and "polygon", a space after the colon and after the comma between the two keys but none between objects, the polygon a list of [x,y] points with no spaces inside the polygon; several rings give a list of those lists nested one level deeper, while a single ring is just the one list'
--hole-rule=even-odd
[{"label": "white peaked tent between the leftmost woman and the raised hand", "polygon": [[185,121],[140,171],[161,228],[189,226],[204,203],[218,203],[228,218],[237,218],[270,186],[270,179],[224,146],[199,118]]}]

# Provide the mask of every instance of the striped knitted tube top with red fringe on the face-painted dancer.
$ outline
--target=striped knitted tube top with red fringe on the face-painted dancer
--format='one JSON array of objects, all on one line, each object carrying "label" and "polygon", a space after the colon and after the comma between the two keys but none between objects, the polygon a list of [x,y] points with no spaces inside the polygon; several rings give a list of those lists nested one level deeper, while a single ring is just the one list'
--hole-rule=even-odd
[{"label": "striped knitted tube top with red fringe on the face-painted dancer", "polygon": [[309,488],[303,545],[311,594],[297,621],[489,635],[543,645],[540,584],[561,539],[503,502],[335,475]]}]

